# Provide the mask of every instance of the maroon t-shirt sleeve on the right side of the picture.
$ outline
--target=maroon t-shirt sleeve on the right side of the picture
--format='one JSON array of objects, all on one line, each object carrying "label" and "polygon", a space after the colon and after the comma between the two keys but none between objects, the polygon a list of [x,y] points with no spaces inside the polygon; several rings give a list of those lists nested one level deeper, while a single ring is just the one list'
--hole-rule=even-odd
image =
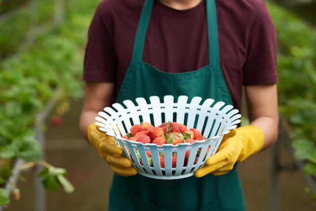
[{"label": "maroon t-shirt sleeve on the right side of the picture", "polygon": [[276,70],[276,30],[266,4],[262,2],[249,28],[247,60],[243,68],[244,85],[278,82]]}]

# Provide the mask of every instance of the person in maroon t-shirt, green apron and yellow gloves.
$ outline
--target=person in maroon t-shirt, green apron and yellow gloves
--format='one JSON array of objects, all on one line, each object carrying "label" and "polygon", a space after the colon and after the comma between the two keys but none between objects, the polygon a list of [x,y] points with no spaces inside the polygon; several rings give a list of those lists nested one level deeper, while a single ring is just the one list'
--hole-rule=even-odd
[{"label": "person in maroon t-shirt, green apron and yellow gloves", "polygon": [[[245,210],[237,165],[278,134],[276,32],[261,0],[103,0],[88,32],[79,127],[114,172],[112,210]],[[225,137],[195,176],[137,174],[95,117],[114,102],[151,95],[213,98],[248,125]],[[251,169],[249,169],[251,171]]]}]

